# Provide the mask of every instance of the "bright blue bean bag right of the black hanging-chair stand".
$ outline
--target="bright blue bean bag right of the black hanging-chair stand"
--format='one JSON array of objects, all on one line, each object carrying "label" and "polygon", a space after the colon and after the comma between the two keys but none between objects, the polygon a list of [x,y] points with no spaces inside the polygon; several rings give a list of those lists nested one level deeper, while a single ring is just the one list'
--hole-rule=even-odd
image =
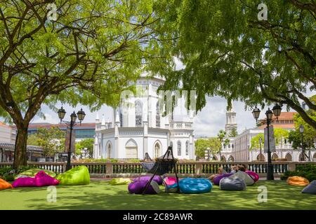
[{"label": "bright blue bean bag right of the black hanging-chair stand", "polygon": [[[212,189],[212,183],[204,178],[185,178],[179,181],[180,193],[200,194],[209,193]],[[176,192],[177,183],[166,186],[166,192]]]}]

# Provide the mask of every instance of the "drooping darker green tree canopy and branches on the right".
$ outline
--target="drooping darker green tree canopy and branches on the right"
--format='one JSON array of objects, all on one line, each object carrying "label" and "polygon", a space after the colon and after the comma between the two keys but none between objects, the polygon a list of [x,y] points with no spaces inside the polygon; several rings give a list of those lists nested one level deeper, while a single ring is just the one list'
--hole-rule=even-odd
[{"label": "drooping darker green tree canopy and branches on the right", "polygon": [[207,95],[247,107],[277,102],[316,128],[300,104],[316,110],[308,98],[316,87],[315,1],[265,1],[268,20],[258,20],[260,1],[173,3],[180,36],[174,50],[185,69],[166,73],[165,89],[197,90],[197,109]]}]

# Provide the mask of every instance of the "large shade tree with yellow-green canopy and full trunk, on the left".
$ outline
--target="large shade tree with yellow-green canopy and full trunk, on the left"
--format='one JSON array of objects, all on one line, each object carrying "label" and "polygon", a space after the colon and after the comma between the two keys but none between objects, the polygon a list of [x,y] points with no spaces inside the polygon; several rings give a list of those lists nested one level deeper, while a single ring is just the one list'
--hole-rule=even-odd
[{"label": "large shade tree with yellow-green canopy and full trunk, on the left", "polygon": [[18,129],[15,168],[27,163],[27,128],[42,104],[115,106],[140,68],[169,70],[166,8],[151,0],[0,1],[0,116]]}]

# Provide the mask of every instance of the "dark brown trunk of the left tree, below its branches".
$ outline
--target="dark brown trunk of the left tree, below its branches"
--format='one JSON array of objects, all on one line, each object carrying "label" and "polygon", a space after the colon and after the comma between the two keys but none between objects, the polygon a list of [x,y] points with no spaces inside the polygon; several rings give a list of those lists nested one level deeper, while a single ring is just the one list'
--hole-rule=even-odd
[{"label": "dark brown trunk of the left tree, below its branches", "polygon": [[13,168],[27,165],[27,127],[17,127]]}]

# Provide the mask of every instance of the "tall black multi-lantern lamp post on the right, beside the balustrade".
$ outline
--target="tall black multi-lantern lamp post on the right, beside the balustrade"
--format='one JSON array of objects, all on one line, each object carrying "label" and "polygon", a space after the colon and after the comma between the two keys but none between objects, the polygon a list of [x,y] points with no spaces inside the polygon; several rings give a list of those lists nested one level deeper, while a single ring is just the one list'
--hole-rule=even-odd
[{"label": "tall black multi-lantern lamp post on the right, beside the balustrade", "polygon": [[[270,151],[270,137],[269,137],[269,127],[270,127],[270,122],[272,120],[272,116],[273,114],[278,118],[281,114],[282,108],[281,106],[279,106],[279,104],[276,104],[275,106],[273,106],[272,111],[270,110],[270,108],[268,108],[268,111],[265,112],[265,116],[266,116],[266,123],[267,123],[267,131],[268,131],[268,172],[267,172],[267,180],[268,181],[272,181],[274,180],[274,176],[273,176],[273,165],[272,165],[272,159],[271,159],[271,151]],[[254,111],[252,111],[252,114],[254,116],[254,118],[256,119],[256,121],[258,121],[259,115],[260,115],[260,110],[256,107],[254,109]]]}]

